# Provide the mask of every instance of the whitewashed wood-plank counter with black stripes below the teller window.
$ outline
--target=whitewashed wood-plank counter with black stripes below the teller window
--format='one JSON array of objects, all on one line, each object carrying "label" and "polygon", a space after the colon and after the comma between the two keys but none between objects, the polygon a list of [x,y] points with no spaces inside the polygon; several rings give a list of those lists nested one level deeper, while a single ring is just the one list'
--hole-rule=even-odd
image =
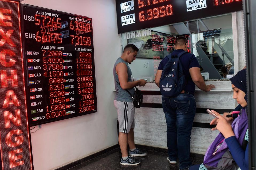
[{"label": "whitewashed wood-plank counter with black stripes below the teller window", "polygon": [[[205,81],[214,84],[215,89],[204,92],[196,87],[196,116],[191,132],[191,152],[204,154],[208,146],[218,135],[218,131],[211,131],[210,122],[213,119],[206,109],[214,109],[219,113],[232,111],[236,101],[232,98],[231,82]],[[155,83],[147,83],[138,87],[143,92],[143,105],[135,108],[135,143],[167,149],[166,122],[162,109],[162,99],[159,88]]]}]

